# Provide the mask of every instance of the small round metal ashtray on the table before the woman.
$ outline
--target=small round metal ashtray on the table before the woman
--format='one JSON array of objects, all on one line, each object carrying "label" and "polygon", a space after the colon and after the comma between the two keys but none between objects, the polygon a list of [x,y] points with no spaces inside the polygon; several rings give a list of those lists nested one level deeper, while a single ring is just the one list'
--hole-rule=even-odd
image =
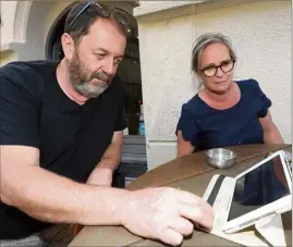
[{"label": "small round metal ashtray on the table before the woman", "polygon": [[213,168],[232,168],[236,163],[236,153],[225,148],[213,148],[206,152],[206,160]]}]

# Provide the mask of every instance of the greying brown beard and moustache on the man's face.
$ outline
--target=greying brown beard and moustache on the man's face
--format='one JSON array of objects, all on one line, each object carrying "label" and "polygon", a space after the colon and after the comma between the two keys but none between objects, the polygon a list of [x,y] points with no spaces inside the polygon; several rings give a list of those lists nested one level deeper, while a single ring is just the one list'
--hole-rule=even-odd
[{"label": "greying brown beard and moustache on the man's face", "polygon": [[69,73],[73,88],[88,99],[100,96],[109,87],[112,79],[105,72],[90,73],[86,70],[78,58],[77,50],[74,51],[73,59],[69,63]]}]

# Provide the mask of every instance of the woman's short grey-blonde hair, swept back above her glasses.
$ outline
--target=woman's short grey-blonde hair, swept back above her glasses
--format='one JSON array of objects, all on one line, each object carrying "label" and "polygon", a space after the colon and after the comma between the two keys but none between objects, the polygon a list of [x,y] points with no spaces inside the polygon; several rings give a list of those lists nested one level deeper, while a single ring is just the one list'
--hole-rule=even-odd
[{"label": "woman's short grey-blonde hair, swept back above her glasses", "polygon": [[196,71],[199,69],[199,62],[200,62],[203,51],[210,44],[223,44],[229,49],[231,59],[233,61],[236,61],[236,54],[229,37],[219,33],[203,34],[196,39],[195,46],[193,48],[192,71],[194,73],[196,73]]}]

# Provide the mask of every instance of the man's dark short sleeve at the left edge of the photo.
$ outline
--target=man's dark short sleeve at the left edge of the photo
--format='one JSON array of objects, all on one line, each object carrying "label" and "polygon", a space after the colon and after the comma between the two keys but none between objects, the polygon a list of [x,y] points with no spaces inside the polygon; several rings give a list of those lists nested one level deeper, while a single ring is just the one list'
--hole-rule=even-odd
[{"label": "man's dark short sleeve at the left edge of the photo", "polygon": [[0,70],[0,145],[39,147],[39,114],[32,82]]}]

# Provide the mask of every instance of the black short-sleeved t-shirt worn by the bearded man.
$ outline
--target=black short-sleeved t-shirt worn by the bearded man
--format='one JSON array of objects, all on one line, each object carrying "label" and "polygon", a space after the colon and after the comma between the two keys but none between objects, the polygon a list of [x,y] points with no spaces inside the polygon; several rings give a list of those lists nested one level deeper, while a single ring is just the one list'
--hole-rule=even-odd
[{"label": "black short-sleeved t-shirt worn by the bearded man", "polygon": [[[86,182],[113,133],[125,128],[122,85],[115,77],[102,95],[80,106],[59,86],[57,65],[32,61],[0,69],[0,145],[36,147],[41,168]],[[0,222],[0,239],[26,237],[48,225],[1,201]]]}]

